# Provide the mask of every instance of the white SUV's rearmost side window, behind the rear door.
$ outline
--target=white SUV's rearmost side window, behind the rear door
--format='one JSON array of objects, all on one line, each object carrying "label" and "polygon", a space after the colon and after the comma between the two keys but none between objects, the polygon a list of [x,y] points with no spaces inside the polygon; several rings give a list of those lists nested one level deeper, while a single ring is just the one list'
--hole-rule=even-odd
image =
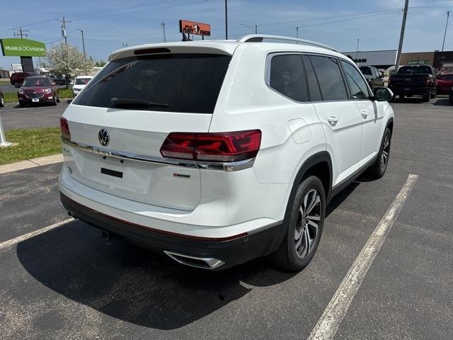
[{"label": "white SUV's rearmost side window, behind the rear door", "polygon": [[294,101],[308,101],[302,55],[275,55],[270,60],[268,85]]}]

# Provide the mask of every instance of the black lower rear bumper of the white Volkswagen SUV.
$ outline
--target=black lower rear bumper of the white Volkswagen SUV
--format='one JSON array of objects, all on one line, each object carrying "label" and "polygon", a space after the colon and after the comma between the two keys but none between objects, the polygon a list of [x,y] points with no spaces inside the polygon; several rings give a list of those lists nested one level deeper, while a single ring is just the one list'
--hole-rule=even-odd
[{"label": "black lower rear bumper of the white Volkswagen SUV", "polygon": [[88,225],[113,232],[153,251],[213,258],[224,262],[216,270],[271,254],[280,244],[281,222],[261,227],[258,231],[214,239],[177,234],[120,220],[81,205],[61,192],[60,200],[71,215]]}]

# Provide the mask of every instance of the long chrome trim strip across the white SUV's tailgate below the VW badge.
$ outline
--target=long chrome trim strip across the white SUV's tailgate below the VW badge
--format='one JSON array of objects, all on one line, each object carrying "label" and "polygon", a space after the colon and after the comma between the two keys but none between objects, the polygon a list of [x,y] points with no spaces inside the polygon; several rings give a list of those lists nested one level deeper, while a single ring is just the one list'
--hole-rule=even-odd
[{"label": "long chrome trim strip across the white SUV's tailgate below the VW badge", "polygon": [[103,154],[108,157],[122,158],[122,159],[132,159],[139,162],[148,162],[154,164],[166,164],[173,166],[184,166],[190,168],[198,169],[208,169],[208,170],[219,170],[219,171],[239,171],[243,169],[248,169],[253,166],[255,159],[245,159],[239,162],[195,162],[191,159],[172,159],[172,158],[163,158],[163,157],[154,157],[147,156],[142,154],[134,154],[132,152],[123,152],[115,151],[111,149],[105,149],[103,147],[92,147],[90,145],[85,145],[79,142],[73,142],[69,140],[62,139],[63,145],[68,145],[69,147],[75,147],[76,149],[82,149],[88,152],[93,152],[96,154]]}]

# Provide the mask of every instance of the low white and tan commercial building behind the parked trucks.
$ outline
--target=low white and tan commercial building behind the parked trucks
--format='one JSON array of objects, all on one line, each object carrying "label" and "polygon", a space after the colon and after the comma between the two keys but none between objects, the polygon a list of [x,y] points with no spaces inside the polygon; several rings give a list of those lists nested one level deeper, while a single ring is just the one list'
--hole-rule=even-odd
[{"label": "low white and tan commercial building behind the parked trucks", "polygon": [[[360,66],[388,69],[395,66],[397,50],[342,52]],[[453,51],[401,53],[400,65],[432,65],[435,69],[453,67]]]}]

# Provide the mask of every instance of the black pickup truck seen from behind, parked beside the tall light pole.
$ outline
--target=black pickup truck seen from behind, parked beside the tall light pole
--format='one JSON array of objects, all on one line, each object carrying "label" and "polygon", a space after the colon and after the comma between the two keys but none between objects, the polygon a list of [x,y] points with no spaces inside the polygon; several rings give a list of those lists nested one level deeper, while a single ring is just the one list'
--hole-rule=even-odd
[{"label": "black pickup truck seen from behind, parked beside the tall light pole", "polygon": [[437,93],[437,79],[430,65],[408,65],[389,77],[389,89],[399,98],[423,96],[430,101]]}]

